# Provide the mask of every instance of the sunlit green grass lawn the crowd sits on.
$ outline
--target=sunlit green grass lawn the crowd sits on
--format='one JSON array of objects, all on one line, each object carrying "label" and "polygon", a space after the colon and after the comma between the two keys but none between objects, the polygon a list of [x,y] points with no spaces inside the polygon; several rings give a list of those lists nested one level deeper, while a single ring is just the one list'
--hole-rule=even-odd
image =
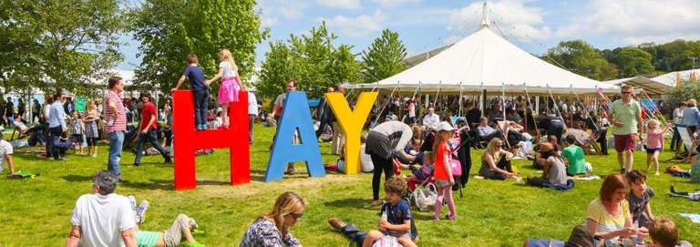
[{"label": "sunlit green grass lawn the crowd sits on", "polygon": [[[256,142],[251,148],[252,182],[229,185],[228,150],[197,158],[196,190],[175,191],[173,170],[160,156],[142,160],[139,168],[131,166],[134,155],[124,152],[122,178],[117,193],[135,195],[150,201],[143,230],[164,231],[179,213],[195,219],[205,235],[197,236],[208,246],[237,246],[243,232],[257,216],[273,207],[276,197],[285,190],[301,194],[309,204],[302,221],[292,229],[305,246],[347,246],[349,241],[326,222],[339,217],[354,222],[361,229],[374,230],[378,208],[369,207],[372,199],[371,174],[342,175],[329,173],[324,178],[308,178],[305,167],[297,165],[297,175],[284,180],[262,182],[268,147],[273,129],[255,126]],[[0,181],[0,219],[5,224],[0,246],[63,245],[70,230],[70,215],[77,198],[90,191],[92,175],[107,167],[106,145],[99,147],[97,159],[67,155],[67,161],[43,160],[36,153],[15,150],[18,170],[41,173],[34,180]],[[335,162],[329,143],[321,144],[324,161]],[[479,170],[482,150],[472,152],[473,176]],[[589,156],[596,174],[619,172],[615,151],[610,156]],[[664,151],[660,160],[668,160]],[[643,168],[646,155],[635,152],[634,167]],[[531,161],[515,160],[523,176],[539,174]],[[662,162],[662,169],[671,163]],[[680,164],[688,170],[688,164]],[[5,167],[5,170],[8,170]],[[7,171],[5,171],[5,174]],[[409,172],[408,172],[409,173]],[[407,171],[404,171],[407,174]],[[421,246],[520,246],[527,238],[566,240],[571,229],[585,221],[588,203],[598,195],[602,180],[576,181],[569,191],[539,189],[513,184],[513,180],[469,180],[464,197],[456,193],[457,221],[430,221],[432,212],[414,211]],[[700,212],[698,202],[668,196],[669,185],[679,190],[700,190],[689,180],[651,176],[647,184],[656,197],[652,209],[656,216],[671,218],[680,229],[681,239],[700,244],[700,228],[679,212]],[[382,193],[383,194],[383,193]],[[445,208],[443,211],[447,211]]]}]

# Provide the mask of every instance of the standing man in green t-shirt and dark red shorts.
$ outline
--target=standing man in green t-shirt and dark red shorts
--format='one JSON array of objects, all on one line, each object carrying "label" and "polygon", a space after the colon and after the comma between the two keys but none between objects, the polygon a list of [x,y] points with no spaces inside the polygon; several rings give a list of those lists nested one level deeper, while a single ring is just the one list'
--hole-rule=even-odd
[{"label": "standing man in green t-shirt and dark red shorts", "polygon": [[638,132],[639,139],[642,140],[643,121],[642,106],[632,98],[632,86],[623,84],[621,87],[620,93],[623,98],[612,102],[609,120],[612,123],[612,135],[615,138],[617,161],[624,173],[632,170],[632,154],[636,148]]}]

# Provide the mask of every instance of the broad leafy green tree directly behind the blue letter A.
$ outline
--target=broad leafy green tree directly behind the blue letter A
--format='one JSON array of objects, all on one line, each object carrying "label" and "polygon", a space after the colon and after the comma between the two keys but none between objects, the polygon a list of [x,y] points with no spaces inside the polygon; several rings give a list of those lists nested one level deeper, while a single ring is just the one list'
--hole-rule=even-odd
[{"label": "broad leafy green tree directly behind the blue letter A", "polygon": [[337,83],[358,81],[361,66],[355,61],[353,46],[336,47],[336,38],[322,23],[308,35],[290,35],[286,43],[271,42],[256,85],[258,94],[273,98],[283,93],[289,78],[296,79],[297,89],[304,90],[309,98],[321,97],[327,87]]}]

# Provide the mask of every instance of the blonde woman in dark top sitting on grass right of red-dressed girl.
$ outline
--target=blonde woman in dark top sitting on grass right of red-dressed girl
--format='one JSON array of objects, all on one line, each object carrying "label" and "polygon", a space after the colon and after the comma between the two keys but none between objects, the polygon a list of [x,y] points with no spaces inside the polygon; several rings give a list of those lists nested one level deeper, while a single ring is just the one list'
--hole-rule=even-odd
[{"label": "blonde woman in dark top sitting on grass right of red-dressed girl", "polygon": [[[515,178],[515,174],[513,174],[513,170],[510,168],[510,159],[513,158],[513,154],[501,149],[501,145],[503,145],[503,141],[499,138],[494,138],[489,141],[489,147],[487,147],[484,154],[481,155],[479,176],[489,180]],[[499,159],[500,155],[503,156]]]}]

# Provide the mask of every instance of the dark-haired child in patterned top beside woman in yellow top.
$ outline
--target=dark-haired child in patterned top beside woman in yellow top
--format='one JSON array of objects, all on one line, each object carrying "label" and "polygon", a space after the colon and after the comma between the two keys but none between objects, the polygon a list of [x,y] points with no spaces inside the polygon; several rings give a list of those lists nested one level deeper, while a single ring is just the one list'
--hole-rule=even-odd
[{"label": "dark-haired child in patterned top beside woman in yellow top", "polygon": [[638,228],[649,228],[654,221],[652,206],[649,204],[654,197],[654,190],[646,187],[646,176],[640,170],[632,170],[624,176],[631,188],[627,194],[627,201],[630,202],[633,225]]}]

